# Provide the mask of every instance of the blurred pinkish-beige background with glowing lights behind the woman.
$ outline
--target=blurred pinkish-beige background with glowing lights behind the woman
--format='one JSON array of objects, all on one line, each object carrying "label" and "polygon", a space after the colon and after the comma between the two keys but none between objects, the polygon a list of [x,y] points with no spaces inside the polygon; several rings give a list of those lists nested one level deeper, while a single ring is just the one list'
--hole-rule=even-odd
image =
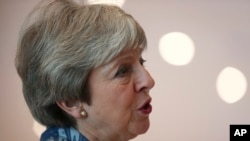
[{"label": "blurred pinkish-beige background with glowing lights behind the woman", "polygon": [[[19,29],[38,2],[0,0],[0,140],[38,141],[44,130],[14,67]],[[156,81],[150,129],[133,141],[228,141],[230,124],[250,124],[249,0],[115,2],[144,28]]]}]

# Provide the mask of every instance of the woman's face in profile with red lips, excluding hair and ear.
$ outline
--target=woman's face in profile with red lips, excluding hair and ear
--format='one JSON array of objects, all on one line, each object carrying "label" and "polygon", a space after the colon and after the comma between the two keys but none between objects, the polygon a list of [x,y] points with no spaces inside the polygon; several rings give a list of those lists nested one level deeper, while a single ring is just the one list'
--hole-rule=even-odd
[{"label": "woman's face in profile with red lips, excluding hair and ear", "polygon": [[143,66],[141,52],[124,52],[89,77],[91,105],[85,132],[101,140],[128,140],[149,128],[150,89],[154,80]]}]

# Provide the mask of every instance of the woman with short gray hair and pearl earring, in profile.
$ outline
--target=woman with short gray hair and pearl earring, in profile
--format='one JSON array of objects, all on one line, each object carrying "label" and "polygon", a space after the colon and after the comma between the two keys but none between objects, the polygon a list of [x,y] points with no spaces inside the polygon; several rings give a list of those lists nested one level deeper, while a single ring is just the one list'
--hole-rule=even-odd
[{"label": "woman with short gray hair and pearl earring, in profile", "polygon": [[16,68],[41,141],[127,141],[149,128],[154,80],[146,37],[111,5],[40,3],[21,31]]}]

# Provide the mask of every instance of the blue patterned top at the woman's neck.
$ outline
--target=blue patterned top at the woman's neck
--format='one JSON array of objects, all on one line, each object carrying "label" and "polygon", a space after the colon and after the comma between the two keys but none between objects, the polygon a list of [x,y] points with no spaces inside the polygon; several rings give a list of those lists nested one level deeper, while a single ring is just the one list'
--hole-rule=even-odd
[{"label": "blue patterned top at the woman's neck", "polygon": [[73,127],[49,127],[41,135],[40,141],[88,141]]}]

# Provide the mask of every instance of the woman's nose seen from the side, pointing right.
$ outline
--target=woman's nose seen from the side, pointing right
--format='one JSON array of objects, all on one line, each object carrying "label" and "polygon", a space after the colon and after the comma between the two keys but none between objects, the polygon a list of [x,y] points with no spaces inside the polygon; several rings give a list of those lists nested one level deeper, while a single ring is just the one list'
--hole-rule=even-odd
[{"label": "woman's nose seen from the side, pointing right", "polygon": [[145,67],[141,66],[138,72],[136,73],[136,83],[135,90],[136,92],[149,92],[151,88],[155,85],[154,79],[151,77],[149,72]]}]

